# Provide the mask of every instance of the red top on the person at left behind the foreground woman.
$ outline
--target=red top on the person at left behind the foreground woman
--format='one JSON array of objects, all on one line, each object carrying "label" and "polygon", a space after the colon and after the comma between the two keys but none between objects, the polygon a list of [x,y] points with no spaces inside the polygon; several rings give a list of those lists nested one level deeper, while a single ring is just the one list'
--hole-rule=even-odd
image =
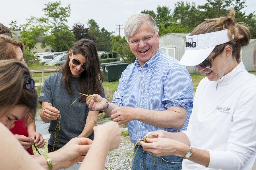
[{"label": "red top on the person at left behind the foreground woman", "polygon": [[[14,135],[24,135],[28,137],[27,128],[25,126],[24,117],[14,122],[15,126],[10,129]],[[32,145],[27,149],[30,155],[34,155]]]}]

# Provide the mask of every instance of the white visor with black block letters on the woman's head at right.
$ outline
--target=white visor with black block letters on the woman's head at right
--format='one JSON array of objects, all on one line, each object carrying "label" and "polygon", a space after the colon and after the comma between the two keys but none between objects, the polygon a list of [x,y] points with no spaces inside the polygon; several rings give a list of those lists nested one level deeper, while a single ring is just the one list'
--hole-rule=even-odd
[{"label": "white visor with black block letters on the woman's head at right", "polygon": [[181,65],[199,65],[211,54],[216,45],[230,41],[228,37],[228,29],[192,36],[189,36],[190,34],[191,33],[187,35],[187,50],[179,61],[179,64]]}]

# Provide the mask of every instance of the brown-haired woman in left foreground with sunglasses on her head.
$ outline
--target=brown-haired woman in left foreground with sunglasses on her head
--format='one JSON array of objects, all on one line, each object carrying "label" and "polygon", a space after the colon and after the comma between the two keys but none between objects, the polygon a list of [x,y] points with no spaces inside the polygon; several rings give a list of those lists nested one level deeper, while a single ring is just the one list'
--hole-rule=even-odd
[{"label": "brown-haired woman in left foreground with sunglasses on her head", "polygon": [[[121,130],[116,122],[94,127],[94,141],[71,139],[65,146],[46,155],[31,157],[9,131],[15,120],[34,119],[37,92],[26,65],[17,60],[0,61],[0,165],[1,169],[61,169],[83,161],[79,169],[104,169],[109,150],[119,147]],[[83,156],[86,155],[86,156]]]}]

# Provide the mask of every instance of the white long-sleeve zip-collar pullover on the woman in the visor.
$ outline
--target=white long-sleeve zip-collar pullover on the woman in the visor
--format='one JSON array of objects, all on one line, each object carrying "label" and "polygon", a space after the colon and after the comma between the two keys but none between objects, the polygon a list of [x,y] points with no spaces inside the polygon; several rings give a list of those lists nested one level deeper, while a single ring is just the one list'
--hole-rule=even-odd
[{"label": "white long-sleeve zip-collar pullover on the woman in the visor", "polygon": [[182,169],[250,170],[256,158],[255,106],[256,76],[242,61],[218,81],[204,78],[183,132],[192,147],[210,152],[210,163],[206,168],[184,159]]}]

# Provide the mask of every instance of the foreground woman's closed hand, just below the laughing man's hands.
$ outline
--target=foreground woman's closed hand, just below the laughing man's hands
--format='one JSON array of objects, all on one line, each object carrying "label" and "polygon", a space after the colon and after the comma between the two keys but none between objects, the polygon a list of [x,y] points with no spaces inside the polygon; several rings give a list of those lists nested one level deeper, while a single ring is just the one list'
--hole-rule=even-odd
[{"label": "foreground woman's closed hand, just below the laughing man's hands", "polygon": [[107,122],[102,125],[97,125],[93,127],[94,130],[94,140],[97,143],[103,143],[110,150],[117,149],[121,141],[121,129],[117,122]]}]

